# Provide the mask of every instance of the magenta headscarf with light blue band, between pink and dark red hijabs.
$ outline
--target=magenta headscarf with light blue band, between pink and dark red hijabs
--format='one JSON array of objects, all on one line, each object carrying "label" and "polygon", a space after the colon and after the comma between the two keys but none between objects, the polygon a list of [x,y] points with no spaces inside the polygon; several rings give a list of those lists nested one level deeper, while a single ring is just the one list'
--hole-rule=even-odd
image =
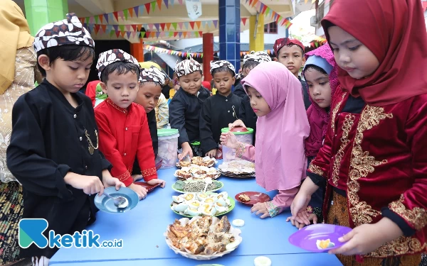
[{"label": "magenta headscarf with light blue band, between pink and dark red hijabs", "polygon": [[[337,90],[339,86],[338,66],[337,62],[335,62],[330,45],[325,44],[316,50],[307,52],[305,58],[307,61],[304,66],[304,71],[309,65],[315,65],[325,70],[330,79],[331,96],[334,95],[335,90]],[[304,72],[302,73],[304,74]],[[327,131],[327,123],[330,121],[330,113],[313,101],[310,91],[308,95],[310,96],[312,104],[307,109],[307,118],[310,123],[310,135],[307,140],[305,140],[305,155],[316,156],[323,145],[323,139]]]}]

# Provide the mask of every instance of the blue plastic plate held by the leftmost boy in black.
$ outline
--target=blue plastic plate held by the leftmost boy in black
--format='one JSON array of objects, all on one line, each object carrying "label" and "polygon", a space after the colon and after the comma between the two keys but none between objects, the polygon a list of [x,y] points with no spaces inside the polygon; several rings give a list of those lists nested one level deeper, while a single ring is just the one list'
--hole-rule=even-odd
[{"label": "blue plastic plate held by the leftmost boy in black", "polygon": [[137,193],[127,187],[120,187],[119,190],[116,190],[115,187],[108,187],[107,189],[104,189],[104,191],[110,196],[124,196],[127,201],[129,201],[129,205],[126,208],[119,209],[114,205],[114,201],[112,199],[104,194],[102,194],[102,196],[97,194],[95,196],[95,206],[97,206],[97,209],[100,209],[100,211],[105,211],[110,214],[121,214],[134,209],[139,202]]}]

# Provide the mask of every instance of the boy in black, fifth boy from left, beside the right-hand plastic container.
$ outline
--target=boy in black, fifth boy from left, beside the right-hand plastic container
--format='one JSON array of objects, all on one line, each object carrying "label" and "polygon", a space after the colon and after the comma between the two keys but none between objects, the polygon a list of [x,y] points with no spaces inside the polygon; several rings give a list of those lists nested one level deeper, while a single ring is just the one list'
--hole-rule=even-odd
[{"label": "boy in black, fifth boy from left, beside the right-hand plastic container", "polygon": [[211,62],[211,74],[218,92],[204,102],[200,113],[200,145],[202,153],[216,157],[221,129],[238,118],[241,97],[231,92],[235,79],[231,62]]}]

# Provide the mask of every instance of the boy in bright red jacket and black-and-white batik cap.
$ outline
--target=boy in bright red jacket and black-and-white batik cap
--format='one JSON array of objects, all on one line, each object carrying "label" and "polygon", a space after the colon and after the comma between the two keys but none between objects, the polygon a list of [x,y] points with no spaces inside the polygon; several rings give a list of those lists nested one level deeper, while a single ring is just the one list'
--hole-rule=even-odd
[{"label": "boy in bright red jacket and black-and-white batik cap", "polygon": [[96,67],[102,91],[108,95],[95,107],[100,150],[112,163],[112,176],[144,199],[147,189],[134,184],[131,176],[135,157],[145,182],[161,187],[165,182],[157,179],[147,114],[144,107],[133,102],[138,92],[139,64],[127,52],[113,49],[101,52]]}]

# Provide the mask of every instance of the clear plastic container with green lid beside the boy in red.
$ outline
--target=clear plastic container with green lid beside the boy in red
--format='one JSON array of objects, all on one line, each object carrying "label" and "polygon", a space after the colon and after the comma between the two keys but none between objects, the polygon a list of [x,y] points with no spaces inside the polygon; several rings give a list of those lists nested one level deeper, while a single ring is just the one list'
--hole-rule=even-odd
[{"label": "clear plastic container with green lid beside the boy in red", "polygon": [[157,137],[159,138],[157,158],[163,160],[160,169],[174,167],[178,160],[178,130],[174,128],[157,129]]}]

